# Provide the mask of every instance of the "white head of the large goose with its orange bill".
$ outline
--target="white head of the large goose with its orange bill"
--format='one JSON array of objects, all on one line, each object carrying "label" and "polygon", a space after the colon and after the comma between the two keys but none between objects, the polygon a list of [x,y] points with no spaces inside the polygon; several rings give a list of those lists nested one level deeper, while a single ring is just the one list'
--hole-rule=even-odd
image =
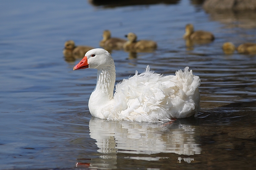
[{"label": "white head of the large goose with its orange bill", "polygon": [[77,65],[75,65],[73,70],[84,68],[96,68],[101,70],[113,65],[113,58],[108,51],[102,48],[94,48],[85,54],[84,58]]}]

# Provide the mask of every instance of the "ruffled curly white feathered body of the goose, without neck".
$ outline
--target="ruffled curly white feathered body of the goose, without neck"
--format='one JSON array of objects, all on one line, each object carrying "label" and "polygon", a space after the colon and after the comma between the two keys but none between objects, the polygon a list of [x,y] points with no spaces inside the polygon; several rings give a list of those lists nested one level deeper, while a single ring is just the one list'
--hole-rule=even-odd
[{"label": "ruffled curly white feathered body of the goose, without neck", "polygon": [[189,117],[199,111],[201,80],[186,67],[175,76],[149,71],[116,85],[113,104],[105,108],[108,119],[157,121]]}]

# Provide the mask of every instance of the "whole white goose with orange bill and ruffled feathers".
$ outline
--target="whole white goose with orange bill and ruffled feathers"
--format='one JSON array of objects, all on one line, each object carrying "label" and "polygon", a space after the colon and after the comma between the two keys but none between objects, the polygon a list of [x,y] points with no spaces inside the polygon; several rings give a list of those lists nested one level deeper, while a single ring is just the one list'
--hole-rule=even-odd
[{"label": "whole white goose with orange bill and ruffled feathers", "polygon": [[92,116],[100,119],[138,122],[168,121],[197,115],[200,110],[198,87],[201,80],[192,70],[176,71],[163,76],[149,70],[123,79],[116,85],[114,60],[108,51],[95,48],[88,51],[73,70],[96,68],[97,82],[89,99]]}]

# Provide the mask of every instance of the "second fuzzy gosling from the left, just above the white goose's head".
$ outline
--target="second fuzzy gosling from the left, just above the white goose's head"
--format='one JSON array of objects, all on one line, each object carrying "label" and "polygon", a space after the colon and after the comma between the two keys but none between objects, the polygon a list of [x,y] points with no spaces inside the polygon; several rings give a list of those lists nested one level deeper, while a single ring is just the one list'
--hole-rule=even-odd
[{"label": "second fuzzy gosling from the left, just above the white goose's head", "polygon": [[111,32],[109,30],[103,31],[102,37],[103,39],[99,42],[99,45],[107,49],[120,50],[126,42],[126,40],[121,38],[111,38]]}]

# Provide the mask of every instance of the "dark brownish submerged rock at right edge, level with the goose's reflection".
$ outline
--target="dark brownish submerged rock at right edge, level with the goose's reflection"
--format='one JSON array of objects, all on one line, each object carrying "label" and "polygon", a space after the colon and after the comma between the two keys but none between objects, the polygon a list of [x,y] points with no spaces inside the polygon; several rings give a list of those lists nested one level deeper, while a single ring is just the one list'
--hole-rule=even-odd
[{"label": "dark brownish submerged rock at right edge, level with the goose's reflection", "polygon": [[228,136],[236,139],[256,140],[256,128],[241,127],[227,133]]}]

